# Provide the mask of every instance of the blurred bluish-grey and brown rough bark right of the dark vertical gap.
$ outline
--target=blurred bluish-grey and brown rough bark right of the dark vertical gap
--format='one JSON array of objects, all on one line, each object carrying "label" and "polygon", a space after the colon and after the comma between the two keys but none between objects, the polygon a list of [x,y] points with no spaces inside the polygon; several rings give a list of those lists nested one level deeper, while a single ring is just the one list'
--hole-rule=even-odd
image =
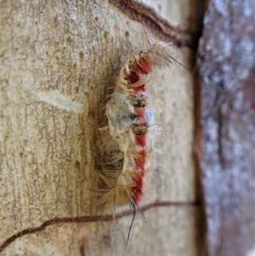
[{"label": "blurred bluish-grey and brown rough bark right of the dark vertical gap", "polygon": [[[255,4],[210,1],[198,62],[208,255],[255,253]],[[233,86],[231,83],[235,79]],[[231,86],[231,87],[230,87]]]}]

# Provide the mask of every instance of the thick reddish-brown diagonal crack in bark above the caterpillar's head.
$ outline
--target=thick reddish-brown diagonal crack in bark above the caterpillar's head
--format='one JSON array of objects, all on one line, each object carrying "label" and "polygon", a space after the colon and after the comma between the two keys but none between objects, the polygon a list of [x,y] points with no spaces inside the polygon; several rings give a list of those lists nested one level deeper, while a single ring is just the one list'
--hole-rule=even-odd
[{"label": "thick reddish-brown diagonal crack in bark above the caterpillar's head", "polygon": [[131,19],[142,22],[164,41],[171,41],[178,47],[197,49],[199,35],[189,31],[181,31],[171,26],[166,20],[157,15],[149,6],[134,0],[110,0]]}]

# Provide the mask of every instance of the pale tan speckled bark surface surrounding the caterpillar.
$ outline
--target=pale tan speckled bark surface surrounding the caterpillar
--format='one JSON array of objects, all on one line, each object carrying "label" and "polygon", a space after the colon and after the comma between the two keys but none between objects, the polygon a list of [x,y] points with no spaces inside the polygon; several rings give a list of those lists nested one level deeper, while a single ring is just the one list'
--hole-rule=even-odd
[{"label": "pale tan speckled bark surface surrounding the caterpillar", "polygon": [[[158,15],[191,29],[194,1],[156,2]],[[124,255],[120,230],[127,237],[132,216],[100,219],[96,142],[108,88],[140,50],[142,25],[108,1],[1,1],[0,31],[0,254]],[[173,45],[171,53],[191,67],[193,50]],[[127,252],[194,256],[193,75],[173,64],[155,81],[168,171],[147,181],[148,223],[135,222]]]}]

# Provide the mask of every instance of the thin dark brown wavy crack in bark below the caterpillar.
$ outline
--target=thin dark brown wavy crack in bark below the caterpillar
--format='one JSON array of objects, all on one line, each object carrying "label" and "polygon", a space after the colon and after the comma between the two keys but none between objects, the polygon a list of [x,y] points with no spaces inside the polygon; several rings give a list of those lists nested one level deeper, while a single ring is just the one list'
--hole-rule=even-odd
[{"label": "thin dark brown wavy crack in bark below the caterpillar", "polygon": [[[151,204],[147,204],[141,207],[141,210],[147,211],[153,207],[163,207],[163,206],[200,206],[200,202],[168,202],[168,201],[156,201]],[[10,245],[13,241],[18,239],[18,237],[25,236],[27,234],[33,234],[40,232],[46,229],[46,227],[58,223],[82,223],[82,222],[109,222],[110,220],[120,219],[124,216],[133,214],[132,211],[125,210],[120,213],[117,213],[116,216],[113,215],[96,215],[96,216],[79,216],[79,217],[63,217],[63,218],[53,218],[47,220],[40,227],[32,227],[30,229],[24,229],[20,232],[14,234],[13,236],[6,239],[2,245],[0,245],[0,253],[3,252],[4,248]]]}]

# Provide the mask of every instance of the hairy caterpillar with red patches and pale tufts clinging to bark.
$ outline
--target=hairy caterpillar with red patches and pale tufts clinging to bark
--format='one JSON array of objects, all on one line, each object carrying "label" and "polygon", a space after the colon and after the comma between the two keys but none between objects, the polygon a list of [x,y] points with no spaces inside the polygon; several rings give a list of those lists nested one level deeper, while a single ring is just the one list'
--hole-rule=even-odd
[{"label": "hairy caterpillar with red patches and pale tufts clinging to bark", "polygon": [[171,64],[166,52],[170,44],[153,42],[146,35],[147,47],[121,68],[106,104],[108,126],[99,129],[108,132],[105,169],[100,172],[105,186],[101,201],[108,207],[129,204],[134,213],[140,209],[143,179],[152,170],[157,153],[154,140],[159,127],[154,123],[147,82],[152,72]]}]

